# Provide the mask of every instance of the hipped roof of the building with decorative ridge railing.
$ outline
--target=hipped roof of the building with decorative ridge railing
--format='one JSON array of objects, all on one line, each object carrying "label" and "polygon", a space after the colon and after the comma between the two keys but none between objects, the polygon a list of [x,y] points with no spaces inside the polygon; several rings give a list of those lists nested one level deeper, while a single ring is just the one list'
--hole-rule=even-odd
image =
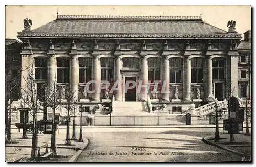
[{"label": "hipped roof of the building with decorative ridge railing", "polygon": [[[198,16],[58,15],[57,19],[18,37],[155,37],[240,38],[212,26]],[[193,36],[194,35],[194,36]],[[201,36],[200,36],[201,35]]]}]

